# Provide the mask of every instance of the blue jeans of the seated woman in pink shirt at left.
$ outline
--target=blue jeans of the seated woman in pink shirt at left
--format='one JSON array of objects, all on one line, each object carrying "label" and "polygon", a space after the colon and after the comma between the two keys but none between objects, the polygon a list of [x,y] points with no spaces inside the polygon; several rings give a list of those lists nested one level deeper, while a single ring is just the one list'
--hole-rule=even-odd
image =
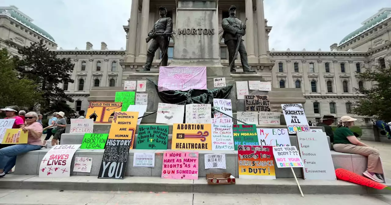
[{"label": "blue jeans of the seated woman in pink shirt at left", "polygon": [[16,156],[41,148],[40,145],[14,144],[0,149],[0,169],[4,169],[4,172],[8,173],[16,164]]}]

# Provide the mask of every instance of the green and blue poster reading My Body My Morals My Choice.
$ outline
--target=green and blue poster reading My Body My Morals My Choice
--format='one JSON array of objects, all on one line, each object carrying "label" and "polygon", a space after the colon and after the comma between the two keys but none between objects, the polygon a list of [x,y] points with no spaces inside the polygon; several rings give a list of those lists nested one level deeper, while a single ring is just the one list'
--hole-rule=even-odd
[{"label": "green and blue poster reading My Body My Morals My Choice", "polygon": [[258,145],[256,125],[233,124],[233,141],[235,150],[238,150],[238,145]]}]

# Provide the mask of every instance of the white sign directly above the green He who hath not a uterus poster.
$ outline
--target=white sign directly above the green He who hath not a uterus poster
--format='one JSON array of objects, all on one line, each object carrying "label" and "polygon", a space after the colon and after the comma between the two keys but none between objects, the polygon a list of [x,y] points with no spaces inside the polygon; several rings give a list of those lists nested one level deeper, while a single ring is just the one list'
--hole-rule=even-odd
[{"label": "white sign directly above the green He who hath not a uterus poster", "polygon": [[183,123],[185,115],[185,105],[175,105],[169,103],[159,103],[156,123],[171,125]]}]

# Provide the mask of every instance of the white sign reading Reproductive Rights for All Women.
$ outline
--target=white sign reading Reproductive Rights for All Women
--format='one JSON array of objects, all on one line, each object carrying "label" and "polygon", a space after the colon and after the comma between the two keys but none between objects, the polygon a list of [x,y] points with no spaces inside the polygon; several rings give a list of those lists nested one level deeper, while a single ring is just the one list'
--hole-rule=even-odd
[{"label": "white sign reading Reproductive Rights for All Women", "polygon": [[282,104],[281,107],[289,134],[310,132],[310,126],[308,125],[307,117],[305,117],[303,105]]}]

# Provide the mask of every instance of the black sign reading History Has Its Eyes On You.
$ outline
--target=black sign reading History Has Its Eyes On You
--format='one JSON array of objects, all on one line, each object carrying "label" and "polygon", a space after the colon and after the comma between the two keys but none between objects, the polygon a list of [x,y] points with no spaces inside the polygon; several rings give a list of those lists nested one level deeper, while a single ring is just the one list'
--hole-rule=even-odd
[{"label": "black sign reading History Has Its Eyes On You", "polygon": [[98,178],[123,179],[133,139],[107,139]]}]

